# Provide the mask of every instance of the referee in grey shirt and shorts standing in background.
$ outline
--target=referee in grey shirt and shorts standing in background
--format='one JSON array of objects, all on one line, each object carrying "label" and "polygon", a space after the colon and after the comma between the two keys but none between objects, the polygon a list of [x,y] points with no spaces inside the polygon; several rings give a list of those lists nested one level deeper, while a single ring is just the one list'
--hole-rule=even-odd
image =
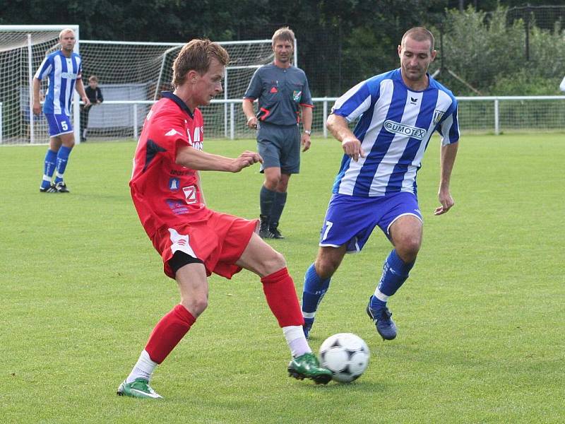
[{"label": "referee in grey shirt and shorts standing in background", "polygon": [[[261,187],[261,230],[263,238],[284,238],[278,229],[287,200],[290,175],[300,172],[300,146],[310,148],[312,98],[306,73],[292,66],[295,33],[288,27],[273,34],[275,61],[261,66],[251,78],[244,95],[243,112],[247,126],[258,129],[257,149],[263,157],[261,172],[265,182]],[[258,112],[253,102],[258,98]],[[300,134],[300,110],[302,126]]]}]

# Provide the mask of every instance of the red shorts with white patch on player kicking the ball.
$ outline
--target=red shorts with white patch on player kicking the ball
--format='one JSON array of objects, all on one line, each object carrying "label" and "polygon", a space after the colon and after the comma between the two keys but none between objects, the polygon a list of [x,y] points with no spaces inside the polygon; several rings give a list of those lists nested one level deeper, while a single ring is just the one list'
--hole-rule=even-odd
[{"label": "red shorts with white patch on player kicking the ball", "polygon": [[151,241],[161,254],[163,271],[170,278],[174,279],[174,273],[169,260],[177,250],[203,261],[208,276],[217,273],[232,278],[242,270],[235,263],[249,244],[251,235],[258,231],[259,220],[247,220],[210,210],[208,213],[206,220],[176,220],[156,230],[145,228],[148,234],[153,233]]}]

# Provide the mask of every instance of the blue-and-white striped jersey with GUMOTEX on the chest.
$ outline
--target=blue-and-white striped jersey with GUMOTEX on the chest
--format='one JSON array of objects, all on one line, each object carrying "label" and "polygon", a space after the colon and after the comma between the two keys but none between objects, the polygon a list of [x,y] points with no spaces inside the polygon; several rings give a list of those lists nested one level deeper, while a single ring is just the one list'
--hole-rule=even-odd
[{"label": "blue-and-white striped jersey with GUMOTEX on the chest", "polygon": [[459,140],[457,101],[450,90],[429,76],[422,91],[408,88],[400,69],[357,84],[333,106],[347,122],[359,118],[353,131],[365,153],[358,162],[344,155],[333,193],[384,196],[417,194],[416,174],[429,139],[438,131],[446,145]]}]

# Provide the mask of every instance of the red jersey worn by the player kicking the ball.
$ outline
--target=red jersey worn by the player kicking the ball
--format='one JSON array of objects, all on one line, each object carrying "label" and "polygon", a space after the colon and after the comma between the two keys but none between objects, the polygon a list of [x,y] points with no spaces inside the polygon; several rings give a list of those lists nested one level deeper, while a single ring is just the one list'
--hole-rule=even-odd
[{"label": "red jersey worn by the player kicking the ball", "polygon": [[170,92],[153,105],[138,141],[129,182],[133,204],[151,237],[162,225],[203,220],[209,210],[202,203],[196,170],[177,165],[177,149],[202,150],[203,119]]}]

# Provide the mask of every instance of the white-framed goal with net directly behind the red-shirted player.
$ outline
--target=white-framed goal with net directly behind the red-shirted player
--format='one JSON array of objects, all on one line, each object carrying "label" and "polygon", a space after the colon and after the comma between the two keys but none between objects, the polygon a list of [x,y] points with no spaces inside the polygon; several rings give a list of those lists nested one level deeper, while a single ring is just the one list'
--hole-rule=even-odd
[{"label": "white-framed goal with net directly behind the red-shirted player", "polygon": [[[243,131],[241,106],[225,100],[241,99],[254,71],[273,59],[270,40],[219,44],[230,54],[230,64],[220,102],[202,108],[207,137],[227,136],[232,110]],[[172,89],[172,63],[183,45],[81,40],[83,81],[97,76],[104,97],[101,105],[90,109],[87,139],[136,138],[153,102],[163,90]]]}]

